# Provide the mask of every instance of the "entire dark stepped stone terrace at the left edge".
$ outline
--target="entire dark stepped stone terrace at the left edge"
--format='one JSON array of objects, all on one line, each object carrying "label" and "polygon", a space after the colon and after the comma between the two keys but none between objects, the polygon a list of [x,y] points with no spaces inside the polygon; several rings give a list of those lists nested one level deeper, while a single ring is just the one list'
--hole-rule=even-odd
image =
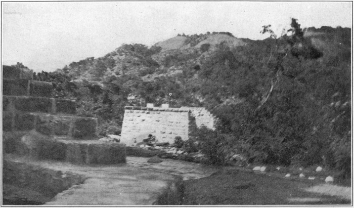
[{"label": "entire dark stepped stone terrace at the left edge", "polygon": [[72,163],[125,162],[125,145],[96,135],[97,118],[76,116],[75,100],[57,99],[51,82],[3,65],[3,153]]}]

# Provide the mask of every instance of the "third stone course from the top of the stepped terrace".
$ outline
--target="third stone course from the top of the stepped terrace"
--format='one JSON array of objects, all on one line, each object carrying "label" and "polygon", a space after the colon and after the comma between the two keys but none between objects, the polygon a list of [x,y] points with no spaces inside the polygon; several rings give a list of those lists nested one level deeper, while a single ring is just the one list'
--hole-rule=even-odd
[{"label": "third stone course from the top of the stepped terrace", "polygon": [[75,100],[45,97],[3,96],[3,112],[39,112],[59,115],[75,114]]}]

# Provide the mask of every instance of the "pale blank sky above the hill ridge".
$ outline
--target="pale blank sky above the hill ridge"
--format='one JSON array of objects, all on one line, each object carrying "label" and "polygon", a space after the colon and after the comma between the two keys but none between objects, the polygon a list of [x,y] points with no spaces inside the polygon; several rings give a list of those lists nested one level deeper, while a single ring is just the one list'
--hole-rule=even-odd
[{"label": "pale blank sky above the hill ridge", "polygon": [[228,31],[264,39],[290,18],[301,27],[352,27],[351,2],[2,2],[2,64],[35,72],[102,57],[122,44]]}]

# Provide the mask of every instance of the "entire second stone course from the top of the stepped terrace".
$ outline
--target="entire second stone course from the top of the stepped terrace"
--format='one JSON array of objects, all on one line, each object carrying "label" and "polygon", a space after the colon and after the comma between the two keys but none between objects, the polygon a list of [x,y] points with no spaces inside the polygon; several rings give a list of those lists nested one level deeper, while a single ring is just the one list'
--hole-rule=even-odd
[{"label": "entire second stone course from the top of the stepped terrace", "polygon": [[28,79],[3,79],[3,95],[53,97],[52,82]]}]

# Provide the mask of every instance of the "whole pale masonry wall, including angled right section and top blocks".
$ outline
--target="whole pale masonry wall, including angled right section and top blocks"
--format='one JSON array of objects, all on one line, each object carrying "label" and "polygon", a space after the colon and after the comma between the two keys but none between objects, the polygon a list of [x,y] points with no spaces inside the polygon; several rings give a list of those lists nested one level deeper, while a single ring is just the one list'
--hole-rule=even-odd
[{"label": "whole pale masonry wall, including angled right section and top blocks", "polygon": [[125,106],[121,132],[121,142],[127,146],[146,139],[149,134],[156,136],[158,142],[173,144],[175,137],[188,140],[192,123],[196,127],[214,129],[215,118],[202,107],[170,108],[168,104],[154,107]]}]

